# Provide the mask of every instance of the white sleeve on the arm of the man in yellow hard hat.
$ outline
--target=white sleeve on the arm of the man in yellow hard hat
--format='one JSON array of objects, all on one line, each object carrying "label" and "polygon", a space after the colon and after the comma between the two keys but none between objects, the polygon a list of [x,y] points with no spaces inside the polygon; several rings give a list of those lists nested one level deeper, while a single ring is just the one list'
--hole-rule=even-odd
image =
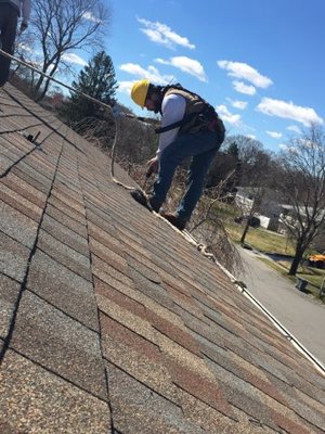
[{"label": "white sleeve on the arm of the man in yellow hard hat", "polygon": [[[165,97],[161,103],[161,128],[182,120],[185,110],[186,100],[184,97],[172,93]],[[160,159],[161,152],[165,148],[174,141],[179,129],[180,128],[178,127],[160,133],[158,151],[156,153],[158,161]]]}]

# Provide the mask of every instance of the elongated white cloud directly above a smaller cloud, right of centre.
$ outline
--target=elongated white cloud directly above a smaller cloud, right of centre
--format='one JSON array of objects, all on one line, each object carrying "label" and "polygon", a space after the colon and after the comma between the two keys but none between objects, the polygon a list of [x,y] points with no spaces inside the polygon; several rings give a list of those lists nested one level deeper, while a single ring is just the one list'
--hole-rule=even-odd
[{"label": "elongated white cloud directly above a smaller cloud, right of centre", "polygon": [[242,62],[218,61],[219,67],[227,71],[230,77],[247,80],[257,88],[265,89],[273,84],[271,78],[261,75],[257,69]]}]

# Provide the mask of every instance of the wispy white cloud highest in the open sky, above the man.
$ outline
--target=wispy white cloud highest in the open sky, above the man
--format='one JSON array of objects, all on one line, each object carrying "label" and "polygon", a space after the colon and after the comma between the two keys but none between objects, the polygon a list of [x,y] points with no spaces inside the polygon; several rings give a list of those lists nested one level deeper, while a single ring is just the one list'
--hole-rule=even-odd
[{"label": "wispy white cloud highest in the open sky, above the man", "polygon": [[141,28],[140,30],[155,43],[160,43],[172,50],[176,48],[176,46],[190,49],[195,48],[195,46],[191,43],[186,37],[176,34],[166,24],[159,22],[154,23],[144,18],[138,18],[138,21],[144,26],[144,28]]}]

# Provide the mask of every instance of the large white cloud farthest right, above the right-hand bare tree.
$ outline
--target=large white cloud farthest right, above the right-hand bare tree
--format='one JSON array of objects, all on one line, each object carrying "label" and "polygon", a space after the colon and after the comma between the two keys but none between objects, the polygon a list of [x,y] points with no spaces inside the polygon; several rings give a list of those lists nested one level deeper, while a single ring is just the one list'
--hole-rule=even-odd
[{"label": "large white cloud farthest right, above the right-hand bare tree", "polygon": [[313,108],[301,107],[300,105],[295,105],[292,102],[263,98],[256,110],[269,116],[294,119],[306,127],[309,127],[311,124],[324,124],[324,120]]}]

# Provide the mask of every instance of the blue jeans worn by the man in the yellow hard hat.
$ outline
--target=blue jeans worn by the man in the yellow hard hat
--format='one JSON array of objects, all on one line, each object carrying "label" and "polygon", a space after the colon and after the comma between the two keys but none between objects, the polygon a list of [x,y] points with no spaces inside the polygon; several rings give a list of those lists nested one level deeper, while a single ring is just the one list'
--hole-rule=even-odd
[{"label": "blue jeans worn by the man in the yellow hard hat", "polygon": [[187,173],[186,191],[177,214],[181,219],[190,220],[202,195],[205,177],[220,144],[214,131],[200,131],[194,135],[180,135],[170,143],[160,156],[159,173],[153,187],[151,203],[159,208],[166,200],[177,167],[192,156]]}]

